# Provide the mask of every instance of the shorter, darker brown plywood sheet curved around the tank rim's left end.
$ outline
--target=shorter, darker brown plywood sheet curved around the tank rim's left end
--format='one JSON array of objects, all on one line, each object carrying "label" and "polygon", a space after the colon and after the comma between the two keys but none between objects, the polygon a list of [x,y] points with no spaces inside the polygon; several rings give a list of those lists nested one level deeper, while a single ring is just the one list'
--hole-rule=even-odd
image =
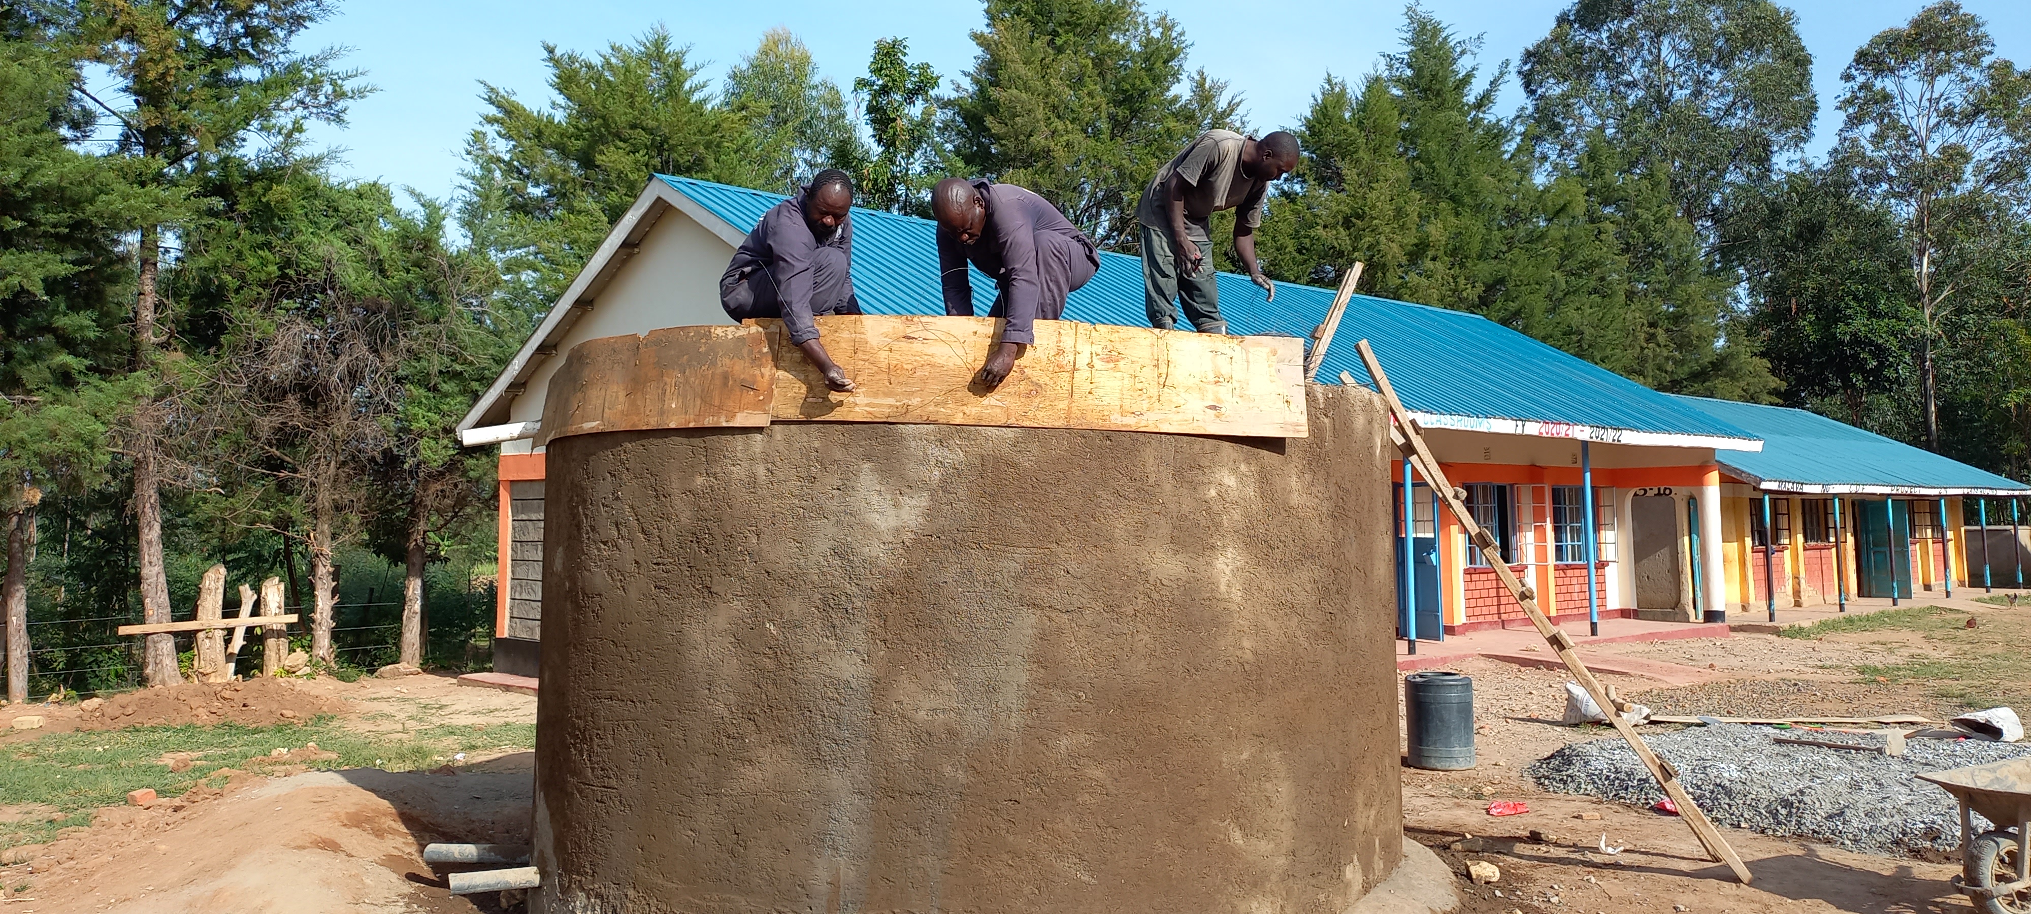
[{"label": "shorter, darker brown plywood sheet curved around the tank rim's left end", "polygon": [[754,327],[664,327],[587,339],[542,400],[536,443],[634,429],[762,427],[776,372]]}]

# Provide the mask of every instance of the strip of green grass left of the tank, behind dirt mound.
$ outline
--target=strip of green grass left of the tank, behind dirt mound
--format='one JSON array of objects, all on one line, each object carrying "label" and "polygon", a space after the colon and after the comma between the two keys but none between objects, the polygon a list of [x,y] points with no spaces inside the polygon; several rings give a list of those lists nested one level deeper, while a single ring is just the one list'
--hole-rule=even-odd
[{"label": "strip of green grass left of the tank, behind dirt mound", "polygon": [[[437,768],[459,752],[528,749],[536,745],[534,723],[439,725],[410,733],[359,733],[335,717],[276,727],[126,727],[110,731],[49,733],[35,741],[0,749],[0,806],[49,804],[63,819],[0,823],[0,847],[43,843],[57,829],[91,825],[91,810],[126,802],[128,790],[154,788],[179,796],[211,778],[219,768],[246,768],[270,749],[299,749],[317,743],[339,758],[315,768],[384,768],[408,772]],[[199,754],[185,772],[171,772],[158,760],[171,752]]]}]

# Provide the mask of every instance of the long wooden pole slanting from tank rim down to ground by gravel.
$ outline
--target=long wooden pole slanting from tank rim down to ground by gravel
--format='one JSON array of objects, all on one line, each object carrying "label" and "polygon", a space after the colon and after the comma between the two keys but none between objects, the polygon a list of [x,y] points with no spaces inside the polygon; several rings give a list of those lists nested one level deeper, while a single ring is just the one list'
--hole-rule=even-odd
[{"label": "long wooden pole slanting from tank rim down to ground by gravel", "polygon": [[[1657,778],[1657,786],[1663,788],[1663,794],[1678,804],[1680,817],[1692,827],[1694,837],[1700,839],[1706,853],[1712,855],[1712,859],[1726,863],[1728,869],[1734,871],[1737,879],[1749,884],[1749,867],[1743,865],[1743,859],[1734,855],[1732,847],[1728,847],[1720,829],[1714,829],[1714,823],[1706,821],[1706,812],[1700,812],[1700,806],[1692,802],[1692,796],[1678,782],[1678,770],[1672,768],[1669,762],[1657,758],[1657,754],[1643,743],[1643,737],[1639,737],[1635,727],[1631,727],[1619,713],[1619,703],[1609,697],[1609,691],[1598,678],[1594,678],[1592,670],[1588,670],[1586,664],[1580,662],[1580,656],[1574,654],[1572,636],[1562,632],[1558,626],[1552,626],[1552,619],[1537,609],[1537,593],[1523,585],[1523,581],[1509,571],[1509,565],[1503,563],[1495,536],[1483,530],[1481,524],[1475,522],[1475,514],[1466,510],[1466,494],[1452,487],[1446,473],[1438,467],[1438,459],[1432,457],[1432,451],[1424,445],[1424,435],[1418,425],[1412,422],[1403,402],[1397,400],[1395,390],[1389,386],[1389,376],[1383,374],[1381,362],[1375,362],[1375,351],[1369,349],[1369,341],[1363,339],[1355,343],[1355,349],[1361,351],[1361,362],[1367,366],[1369,378],[1375,380],[1375,390],[1383,396],[1383,402],[1389,404],[1389,414],[1395,418],[1391,441],[1395,441],[1395,445],[1403,449],[1414,463],[1418,463],[1418,471],[1424,473],[1432,492],[1442,494],[1446,510],[1452,512],[1454,520],[1458,520],[1466,530],[1468,540],[1481,548],[1481,554],[1487,557],[1489,567],[1495,569],[1495,577],[1509,589],[1509,595],[1515,597],[1517,605],[1523,607],[1523,613],[1529,615],[1537,634],[1552,644],[1558,658],[1566,662],[1566,670],[1572,672],[1572,678],[1580,684],[1580,689],[1584,689],[1586,695],[1594,699],[1594,705],[1607,713],[1609,723],[1615,725],[1615,731],[1629,743],[1629,749],[1637,754],[1637,760],[1641,760],[1643,768],[1651,772],[1651,778]],[[1349,374],[1342,374],[1340,380],[1353,384],[1353,376]]]}]

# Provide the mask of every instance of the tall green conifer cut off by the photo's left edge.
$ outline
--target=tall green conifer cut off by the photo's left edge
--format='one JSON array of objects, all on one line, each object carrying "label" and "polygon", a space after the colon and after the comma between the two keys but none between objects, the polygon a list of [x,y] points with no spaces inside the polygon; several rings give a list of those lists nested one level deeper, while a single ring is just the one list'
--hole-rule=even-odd
[{"label": "tall green conifer cut off by the photo's left edge", "polygon": [[146,211],[116,162],[71,140],[91,114],[71,97],[77,61],[45,22],[0,10],[0,676],[28,695],[28,554],[43,492],[81,489],[110,461],[128,396],[120,236]]}]

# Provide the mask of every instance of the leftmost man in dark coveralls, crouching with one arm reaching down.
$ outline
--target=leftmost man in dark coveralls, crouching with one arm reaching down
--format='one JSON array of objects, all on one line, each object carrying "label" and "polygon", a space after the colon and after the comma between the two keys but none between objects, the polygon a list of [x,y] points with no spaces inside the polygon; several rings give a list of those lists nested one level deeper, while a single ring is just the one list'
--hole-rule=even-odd
[{"label": "leftmost man in dark coveralls, crouching with one arm reaching down", "polygon": [[825,169],[802,193],[762,213],[719,278],[719,307],[735,321],[780,317],[790,343],[825,374],[825,386],[853,390],[814,321],[861,313],[853,297],[853,179]]}]

